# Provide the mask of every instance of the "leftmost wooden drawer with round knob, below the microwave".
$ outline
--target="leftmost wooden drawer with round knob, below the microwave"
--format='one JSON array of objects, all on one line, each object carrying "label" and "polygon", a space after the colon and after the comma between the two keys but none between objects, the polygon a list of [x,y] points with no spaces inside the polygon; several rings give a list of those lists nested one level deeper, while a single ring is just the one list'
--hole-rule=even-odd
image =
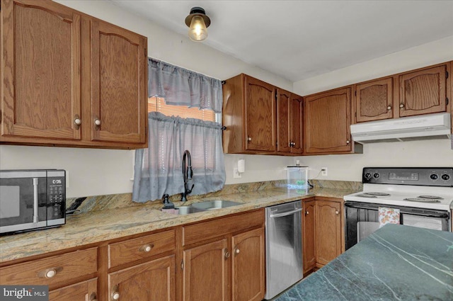
[{"label": "leftmost wooden drawer with round knob, below the microwave", "polygon": [[91,248],[51,256],[1,268],[2,285],[49,285],[70,283],[72,279],[98,271],[98,249]]}]

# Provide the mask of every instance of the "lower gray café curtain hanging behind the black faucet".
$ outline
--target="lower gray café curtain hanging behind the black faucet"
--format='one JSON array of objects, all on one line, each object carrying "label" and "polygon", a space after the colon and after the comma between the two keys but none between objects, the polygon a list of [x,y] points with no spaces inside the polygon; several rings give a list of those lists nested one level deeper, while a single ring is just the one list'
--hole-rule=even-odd
[{"label": "lower gray caf\u00e9 curtain hanging behind the black faucet", "polygon": [[164,193],[184,191],[182,159],[192,156],[193,183],[190,195],[219,191],[225,183],[222,125],[193,118],[168,117],[151,112],[149,147],[135,152],[132,200],[158,200]]}]

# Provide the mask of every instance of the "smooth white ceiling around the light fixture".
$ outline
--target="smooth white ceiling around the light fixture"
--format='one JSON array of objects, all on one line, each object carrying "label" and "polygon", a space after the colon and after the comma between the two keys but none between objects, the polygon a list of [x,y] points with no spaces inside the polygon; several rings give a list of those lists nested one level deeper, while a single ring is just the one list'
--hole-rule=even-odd
[{"label": "smooth white ceiling around the light fixture", "polygon": [[290,81],[453,35],[453,1],[110,1],[182,35],[201,6],[205,45]]}]

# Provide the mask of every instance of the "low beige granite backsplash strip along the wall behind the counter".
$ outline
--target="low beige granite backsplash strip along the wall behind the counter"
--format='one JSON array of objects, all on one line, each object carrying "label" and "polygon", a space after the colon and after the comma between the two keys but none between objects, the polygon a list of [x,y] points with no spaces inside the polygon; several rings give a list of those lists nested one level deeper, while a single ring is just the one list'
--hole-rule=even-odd
[{"label": "low beige granite backsplash strip along the wall behind the counter", "polygon": [[[311,185],[314,188],[331,188],[348,191],[360,191],[362,190],[361,182],[352,181],[329,181],[329,180],[310,180]],[[190,200],[197,200],[200,198],[214,198],[221,195],[229,195],[233,193],[248,193],[251,191],[263,191],[266,189],[283,188],[286,187],[287,180],[277,181],[263,181],[263,182],[251,182],[251,183],[239,183],[225,185],[221,191],[214,193],[207,193],[205,195],[188,195],[188,203]],[[125,208],[132,206],[150,206],[161,208],[161,200],[154,200],[147,203],[135,203],[132,202],[132,193],[119,193],[113,195],[94,195],[88,196],[84,200],[83,198],[67,198],[67,208],[71,207],[76,201],[82,201],[81,205],[77,208],[78,212],[108,210],[115,208]],[[183,205],[180,203],[180,194],[171,195],[171,202],[175,205]]]}]

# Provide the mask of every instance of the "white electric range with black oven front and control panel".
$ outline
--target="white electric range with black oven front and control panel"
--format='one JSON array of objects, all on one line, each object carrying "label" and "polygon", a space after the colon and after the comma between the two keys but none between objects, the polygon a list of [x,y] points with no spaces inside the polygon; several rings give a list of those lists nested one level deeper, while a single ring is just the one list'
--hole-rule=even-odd
[{"label": "white electric range with black oven front and control panel", "polygon": [[346,249],[379,229],[379,208],[398,209],[400,223],[449,231],[453,167],[365,167],[363,191],[345,195]]}]

